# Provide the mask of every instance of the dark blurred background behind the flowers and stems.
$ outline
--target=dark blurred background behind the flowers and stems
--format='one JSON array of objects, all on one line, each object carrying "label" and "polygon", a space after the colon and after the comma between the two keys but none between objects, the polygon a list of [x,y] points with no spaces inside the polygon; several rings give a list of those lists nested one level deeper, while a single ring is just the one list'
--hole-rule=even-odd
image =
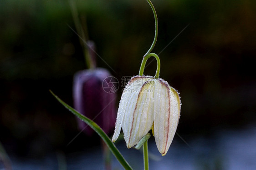
[{"label": "dark blurred background behind the flowers and stems", "polygon": [[[100,58],[97,66],[120,83],[122,76],[138,75],[154,38],[146,0],[76,2],[86,15],[89,39],[111,68]],[[177,133],[188,144],[202,137],[211,145],[216,132],[255,129],[256,1],[152,2],[159,19],[152,52],[161,60],[160,77],[180,92],[182,101]],[[68,25],[75,29],[67,0],[0,0],[0,141],[10,159],[100,150],[99,137],[83,133],[67,146],[79,133],[77,122],[49,92],[72,105],[73,75],[86,69],[79,39]],[[154,60],[144,74],[155,70]],[[249,135],[256,139],[255,134]],[[173,147],[182,145],[177,143],[184,144],[176,136]]]}]

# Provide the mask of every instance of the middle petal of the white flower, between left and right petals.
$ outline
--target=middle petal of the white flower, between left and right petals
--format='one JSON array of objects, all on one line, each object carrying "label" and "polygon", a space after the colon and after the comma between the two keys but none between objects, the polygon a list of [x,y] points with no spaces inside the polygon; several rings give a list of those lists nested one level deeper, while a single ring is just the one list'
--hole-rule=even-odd
[{"label": "middle petal of the white flower, between left and right petals", "polygon": [[146,81],[139,91],[135,110],[132,115],[132,126],[130,130],[127,147],[131,148],[138,144],[139,140],[151,129],[154,121],[154,81]]}]

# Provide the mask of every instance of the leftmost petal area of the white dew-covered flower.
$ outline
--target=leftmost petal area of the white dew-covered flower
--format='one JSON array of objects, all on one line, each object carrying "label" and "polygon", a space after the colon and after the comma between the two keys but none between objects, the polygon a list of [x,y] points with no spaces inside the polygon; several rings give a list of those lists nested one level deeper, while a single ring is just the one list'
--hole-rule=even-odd
[{"label": "leftmost petal area of the white dew-covered flower", "polygon": [[[145,78],[144,76],[134,76],[126,85],[123,90],[121,100],[118,107],[118,115],[116,120],[115,132],[112,141],[118,139],[118,136],[123,126],[124,139],[128,141],[128,134],[131,130],[132,118],[130,117],[135,109],[135,105],[138,98],[139,90],[141,89],[143,83],[152,79],[152,77]],[[125,123],[126,122],[126,123]],[[130,123],[129,123],[130,122]]]}]

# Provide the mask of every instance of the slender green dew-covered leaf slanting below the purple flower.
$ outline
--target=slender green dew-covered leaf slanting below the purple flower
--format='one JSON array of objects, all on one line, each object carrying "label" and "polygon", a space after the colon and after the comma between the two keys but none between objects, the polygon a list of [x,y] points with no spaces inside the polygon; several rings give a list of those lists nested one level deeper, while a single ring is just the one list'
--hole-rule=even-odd
[{"label": "slender green dew-covered leaf slanting below the purple flower", "polygon": [[97,125],[94,121],[90,120],[86,116],[78,113],[75,109],[71,106],[67,105],[64,101],[62,101],[58,96],[56,96],[51,90],[51,94],[69,111],[71,111],[74,115],[76,115],[79,119],[84,121],[87,125],[89,125],[93,130],[97,132],[97,134],[102,138],[102,140],[108,145],[108,148],[112,151],[113,155],[117,158],[120,164],[123,166],[125,170],[132,170],[131,166],[128,162],[123,158],[123,155],[119,152],[117,147],[114,145],[112,140],[108,137],[108,135]]}]

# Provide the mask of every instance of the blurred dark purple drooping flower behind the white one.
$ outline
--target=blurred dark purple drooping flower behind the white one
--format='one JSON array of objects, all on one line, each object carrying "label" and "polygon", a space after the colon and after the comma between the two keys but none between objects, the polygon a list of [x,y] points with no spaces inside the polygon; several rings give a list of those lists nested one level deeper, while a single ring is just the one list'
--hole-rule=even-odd
[{"label": "blurred dark purple drooping flower behind the white one", "polygon": [[[102,82],[111,76],[108,70],[96,68],[93,70],[78,71],[73,80],[74,108],[82,115],[96,122],[107,134],[114,128],[116,109],[115,93],[108,93],[102,87]],[[87,135],[92,130],[82,120],[77,119],[78,128]]]}]

